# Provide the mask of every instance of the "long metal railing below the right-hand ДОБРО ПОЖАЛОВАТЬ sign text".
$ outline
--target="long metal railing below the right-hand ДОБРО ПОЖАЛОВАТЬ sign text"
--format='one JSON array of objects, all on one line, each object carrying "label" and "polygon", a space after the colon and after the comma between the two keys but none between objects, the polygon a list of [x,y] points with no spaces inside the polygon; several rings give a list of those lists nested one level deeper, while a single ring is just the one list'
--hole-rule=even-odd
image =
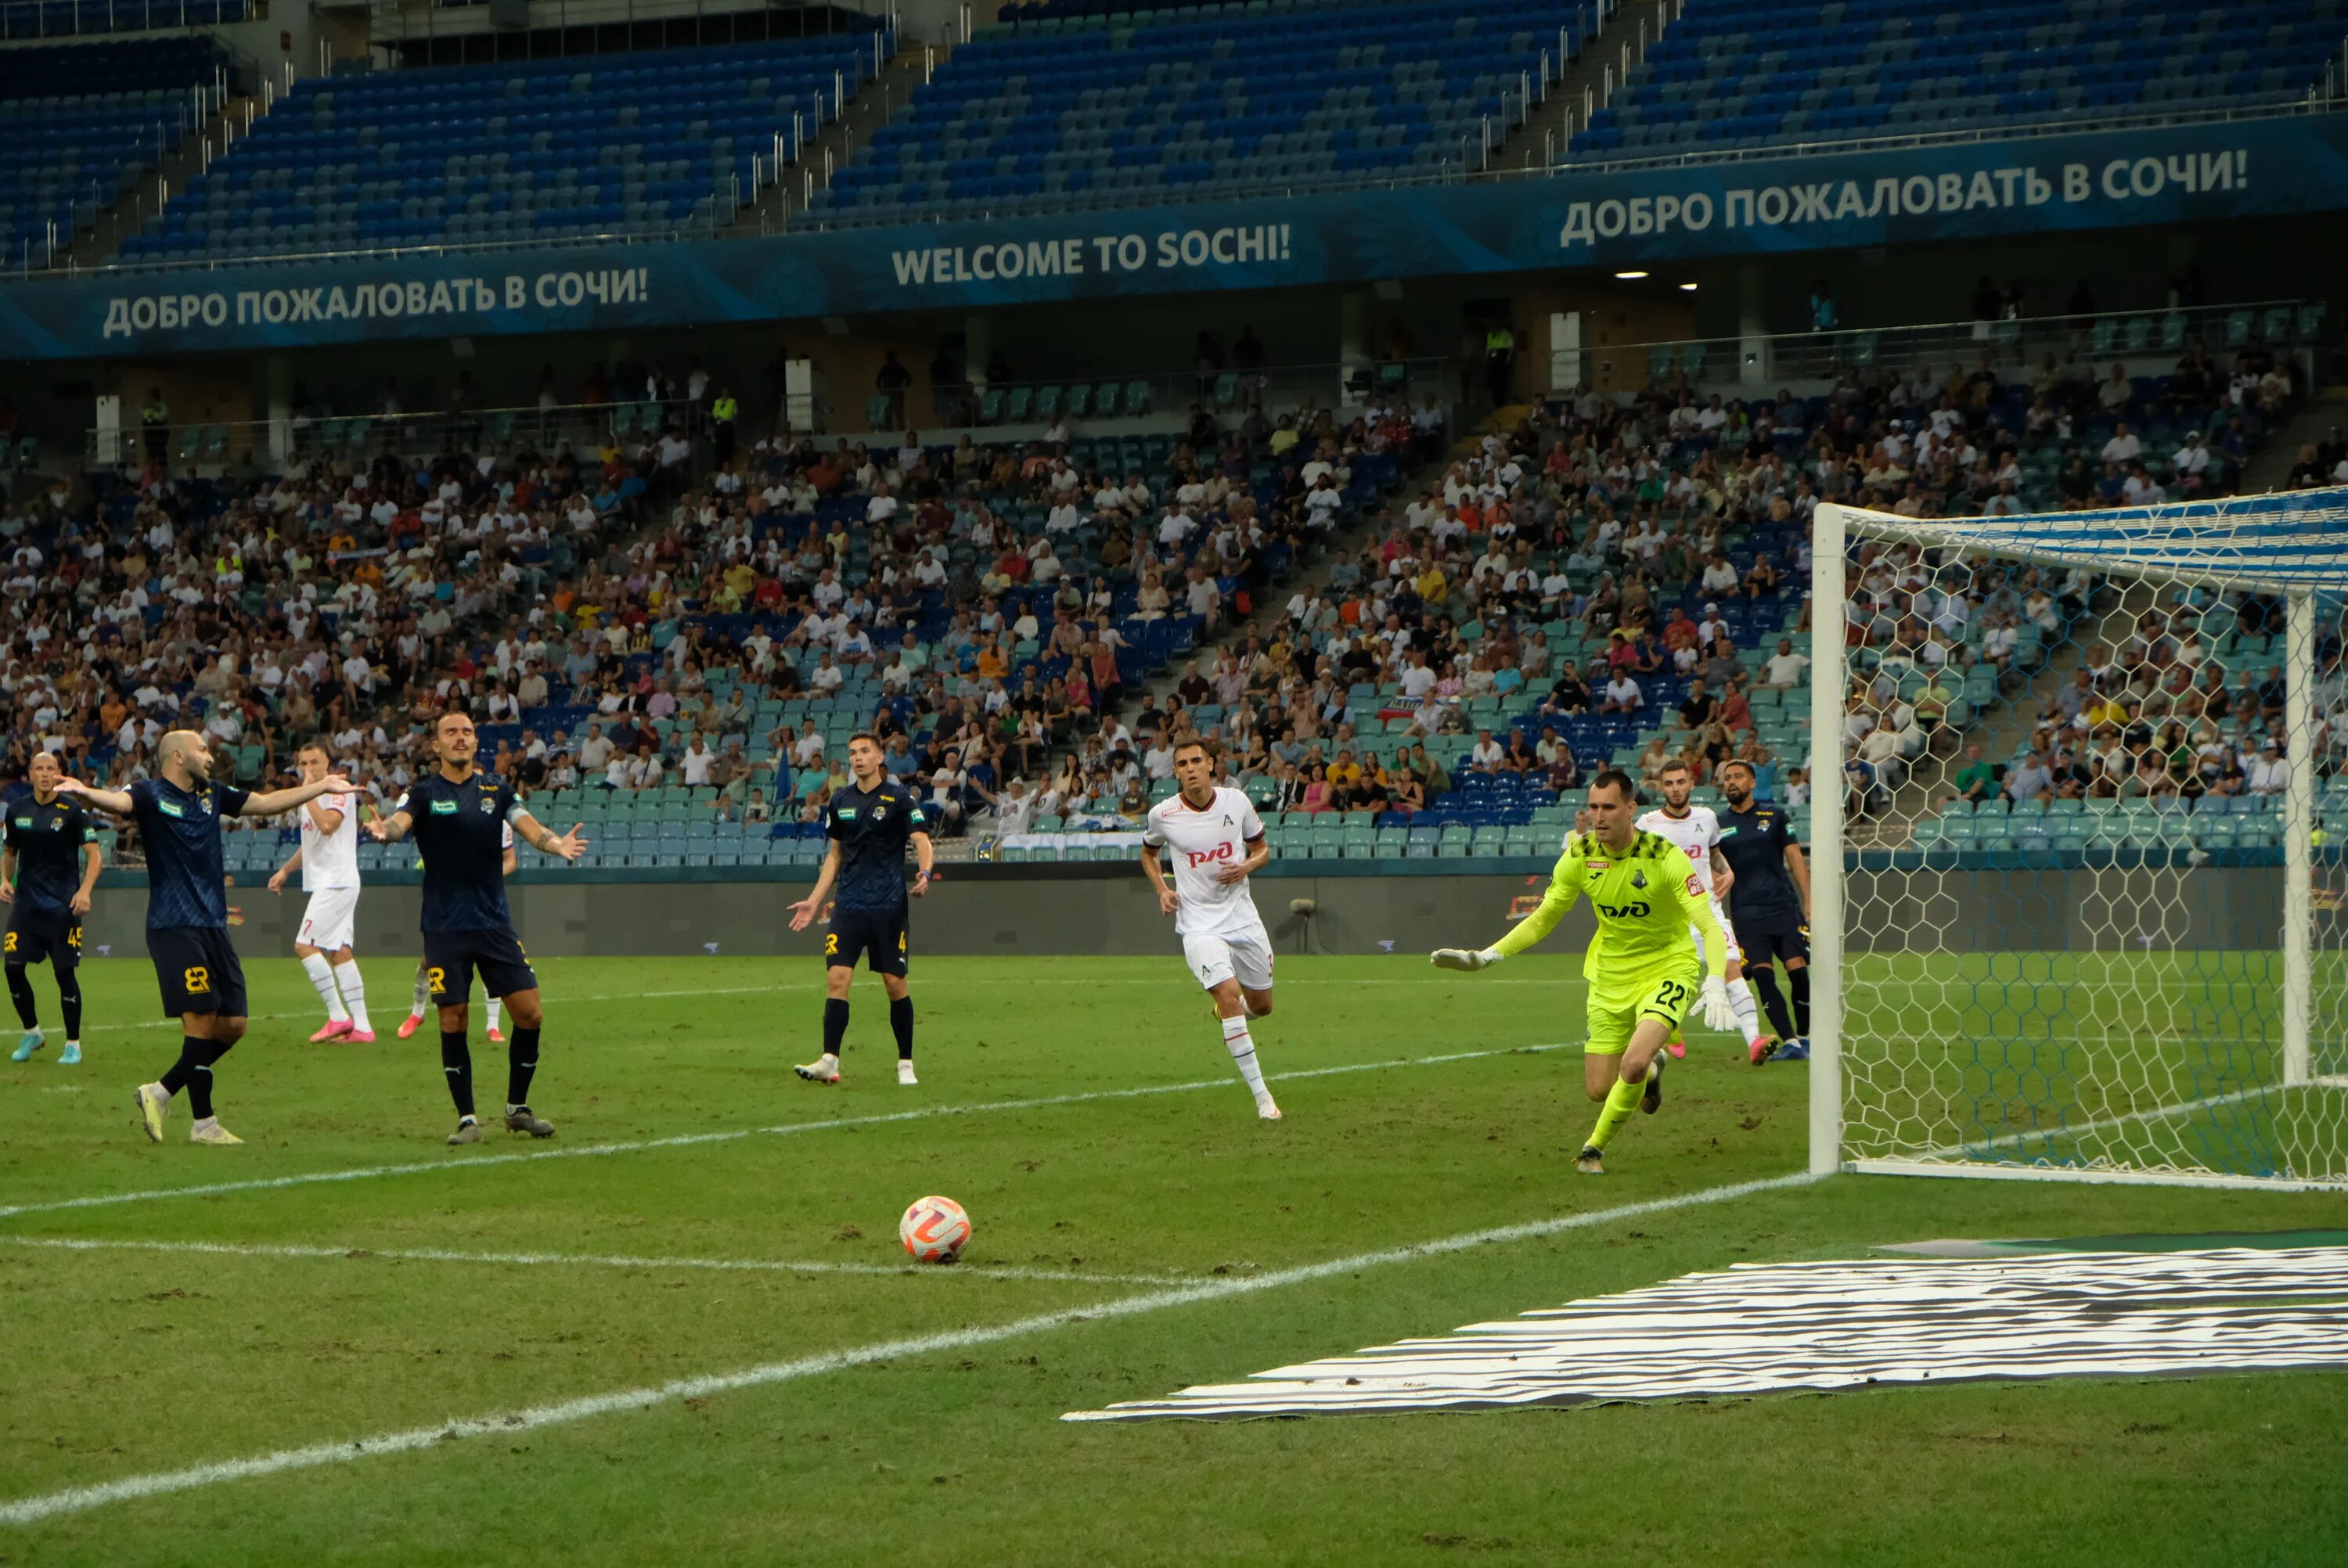
[{"label": "long metal railing below the right-hand \u0414\u041e\u0411\u0420\u041e \u041f\u041e\u0416\u0410\u041b\u041e\u0412\u0410\u0422\u042c sign text", "polygon": [[[1632,387],[1672,380],[1756,385],[1773,392],[1784,383],[1820,383],[1864,366],[1900,373],[1918,364],[1944,369],[2031,366],[2045,354],[2066,361],[2087,354],[2099,376],[2111,361],[2177,359],[2200,343],[2224,366],[2238,347],[2313,347],[2329,322],[2317,300],[2247,300],[2233,305],[2174,305],[2160,310],[2106,310],[2097,315],[2005,317],[1989,322],[1928,322],[1916,326],[1834,326],[1806,333],[1756,333],[1742,338],[1674,338],[1669,343],[1608,343],[1564,350],[1552,359],[1550,380],[1571,373],[1592,387]],[[1552,385],[1552,394],[1571,392]]]}]

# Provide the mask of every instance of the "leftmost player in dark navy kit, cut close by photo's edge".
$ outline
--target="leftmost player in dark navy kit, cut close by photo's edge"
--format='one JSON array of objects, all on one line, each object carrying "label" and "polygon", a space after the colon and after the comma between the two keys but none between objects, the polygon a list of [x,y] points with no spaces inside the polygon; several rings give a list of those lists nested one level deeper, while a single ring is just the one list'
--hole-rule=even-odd
[{"label": "leftmost player in dark navy kit, cut close by photo's edge", "polygon": [[7,807],[7,847],[0,850],[0,904],[9,906],[0,962],[7,965],[7,995],[23,1021],[23,1040],[9,1061],[31,1061],[47,1042],[26,965],[49,960],[56,1005],[66,1014],[66,1049],[56,1061],[70,1068],[82,1059],[82,915],[99,885],[99,829],[80,805],[59,798],[56,784],[66,770],[56,765],[56,756],[35,751],[26,775],[33,793]]}]

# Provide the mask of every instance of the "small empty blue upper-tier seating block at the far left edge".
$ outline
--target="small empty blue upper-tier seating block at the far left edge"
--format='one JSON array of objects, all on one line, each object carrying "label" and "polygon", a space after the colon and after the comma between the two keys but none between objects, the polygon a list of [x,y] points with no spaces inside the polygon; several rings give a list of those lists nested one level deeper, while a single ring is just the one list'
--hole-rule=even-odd
[{"label": "small empty blue upper-tier seating block at the far left edge", "polygon": [[0,235],[7,261],[47,265],[99,211],[195,129],[211,87],[207,38],[45,45],[0,52]]}]

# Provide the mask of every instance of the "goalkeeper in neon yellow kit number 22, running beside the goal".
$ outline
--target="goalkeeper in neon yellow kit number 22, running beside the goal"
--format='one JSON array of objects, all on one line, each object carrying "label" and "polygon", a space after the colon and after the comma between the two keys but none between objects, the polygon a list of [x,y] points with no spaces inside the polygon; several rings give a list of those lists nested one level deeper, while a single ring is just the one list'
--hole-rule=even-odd
[{"label": "goalkeeper in neon yellow kit number 22, running beside the goal", "polygon": [[[1601,1101],[1597,1127],[1573,1169],[1604,1174],[1604,1148],[1632,1106],[1662,1103],[1662,1042],[1688,1005],[1702,1000],[1705,1023],[1728,1028],[1735,1009],[1721,979],[1728,944],[1712,899],[1681,850],[1637,826],[1639,793],[1608,768],[1590,782],[1590,831],[1568,833],[1540,908],[1482,953],[1442,948],[1442,969],[1486,969],[1533,946],[1587,894],[1599,915],[1597,941],[1583,960],[1590,981],[1590,1045],[1583,1047],[1583,1089]],[[1688,927],[1705,937],[1702,953]],[[1707,972],[1709,969],[1709,972]]]}]

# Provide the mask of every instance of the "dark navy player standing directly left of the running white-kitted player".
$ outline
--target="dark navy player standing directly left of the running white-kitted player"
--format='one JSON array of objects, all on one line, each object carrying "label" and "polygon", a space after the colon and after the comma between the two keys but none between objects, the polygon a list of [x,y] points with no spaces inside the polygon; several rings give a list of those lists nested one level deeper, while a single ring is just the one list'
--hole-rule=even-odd
[{"label": "dark navy player standing directly left of the running white-kitted player", "polygon": [[913,897],[930,892],[930,819],[909,784],[888,777],[880,765],[880,742],[871,735],[848,737],[848,772],[855,782],[831,796],[824,812],[824,836],[831,852],[815,878],[815,892],[791,906],[791,930],[803,932],[824,908],[834,890],[831,934],[824,937],[824,1054],[791,1068],[810,1084],[841,1082],[841,1042],[848,1038],[848,981],[857,958],[880,976],[888,991],[888,1021],[897,1033],[897,1082],[913,1077],[913,998],[904,976],[906,948],[904,847],[911,843],[920,861]]}]

